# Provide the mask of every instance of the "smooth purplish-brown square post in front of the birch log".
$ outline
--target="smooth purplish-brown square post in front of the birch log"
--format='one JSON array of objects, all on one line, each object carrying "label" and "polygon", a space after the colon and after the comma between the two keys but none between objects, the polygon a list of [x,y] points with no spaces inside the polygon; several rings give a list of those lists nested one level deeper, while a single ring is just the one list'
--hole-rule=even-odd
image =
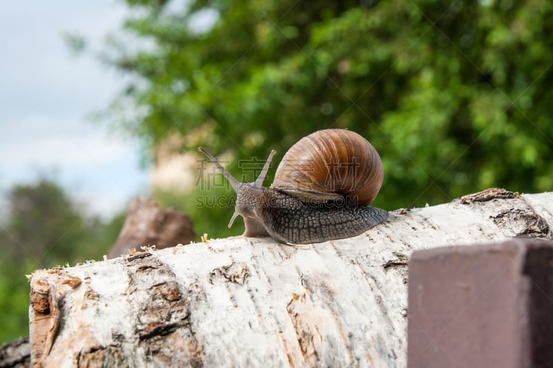
[{"label": "smooth purplish-brown square post in front of the birch log", "polygon": [[553,242],[414,252],[408,365],[553,367]]}]

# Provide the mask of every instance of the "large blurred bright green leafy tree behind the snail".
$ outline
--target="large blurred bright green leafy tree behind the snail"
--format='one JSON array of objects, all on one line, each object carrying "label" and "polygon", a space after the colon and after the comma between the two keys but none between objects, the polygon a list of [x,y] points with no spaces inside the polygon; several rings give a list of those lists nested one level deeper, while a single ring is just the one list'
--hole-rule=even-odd
[{"label": "large blurred bright green leafy tree behind the snail", "polygon": [[553,186],[550,1],[126,3],[123,33],[147,45],[112,43],[131,83],[111,111],[148,144],[178,131],[203,137],[183,149],[279,162],[349,128],[382,157],[388,210]]}]

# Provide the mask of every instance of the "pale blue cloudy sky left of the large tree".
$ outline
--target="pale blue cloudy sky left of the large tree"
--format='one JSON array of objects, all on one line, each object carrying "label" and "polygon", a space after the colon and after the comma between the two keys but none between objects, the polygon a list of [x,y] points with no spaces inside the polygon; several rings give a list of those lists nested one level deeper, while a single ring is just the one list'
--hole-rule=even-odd
[{"label": "pale blue cloudy sky left of the large tree", "polygon": [[[14,184],[51,177],[109,218],[147,194],[140,142],[91,119],[124,86],[97,56],[120,27],[120,1],[8,1],[0,10],[0,196]],[[64,34],[87,40],[75,55]],[[4,203],[5,204],[5,203]],[[0,203],[3,211],[6,206]],[[0,213],[1,215],[1,213]]]}]

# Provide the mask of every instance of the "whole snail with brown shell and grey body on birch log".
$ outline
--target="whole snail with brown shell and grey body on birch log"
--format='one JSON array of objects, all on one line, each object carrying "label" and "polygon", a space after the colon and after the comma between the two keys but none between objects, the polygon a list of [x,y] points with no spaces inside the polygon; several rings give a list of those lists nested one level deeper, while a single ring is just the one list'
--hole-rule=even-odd
[{"label": "whole snail with brown shell and grey body on birch log", "polygon": [[244,236],[270,235],[285,244],[310,244],[359,235],[388,212],[368,207],[382,186],[382,161],[361,135],[326,129],[303,137],[285,153],[270,188],[263,187],[271,151],[255,182],[234,179],[203,147],[236,192],[234,214],[244,218]]}]

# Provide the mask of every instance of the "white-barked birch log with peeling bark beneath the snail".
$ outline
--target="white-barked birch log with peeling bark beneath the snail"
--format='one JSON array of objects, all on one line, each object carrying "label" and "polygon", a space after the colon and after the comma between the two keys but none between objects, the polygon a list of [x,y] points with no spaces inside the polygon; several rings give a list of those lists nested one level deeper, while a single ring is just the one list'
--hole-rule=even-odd
[{"label": "white-barked birch log with peeling bark beneath the snail", "polygon": [[405,367],[411,252],[552,239],[553,193],[492,188],[303,247],[234,237],[35,271],[35,367]]}]

